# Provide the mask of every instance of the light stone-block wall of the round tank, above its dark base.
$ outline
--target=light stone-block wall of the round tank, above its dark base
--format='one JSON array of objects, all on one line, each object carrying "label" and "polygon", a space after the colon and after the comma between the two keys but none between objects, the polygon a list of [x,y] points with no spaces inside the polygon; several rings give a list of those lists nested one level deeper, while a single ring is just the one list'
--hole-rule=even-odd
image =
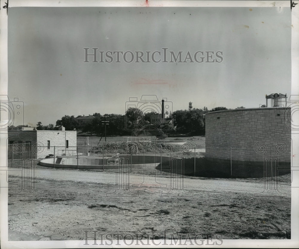
[{"label": "light stone-block wall of the round tank, above its dark base", "polygon": [[223,148],[232,147],[239,148],[234,150],[237,160],[260,161],[272,154],[280,161],[290,161],[291,129],[285,122],[286,110],[270,107],[207,113],[206,157],[230,159],[230,150]]}]

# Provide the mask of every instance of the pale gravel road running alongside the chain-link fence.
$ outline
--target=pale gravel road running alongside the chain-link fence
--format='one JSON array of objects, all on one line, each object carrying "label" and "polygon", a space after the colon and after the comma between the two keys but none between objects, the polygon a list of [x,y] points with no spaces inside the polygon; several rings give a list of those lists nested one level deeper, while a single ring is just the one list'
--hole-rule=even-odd
[{"label": "pale gravel road running alongside the chain-link fence", "polygon": [[[22,170],[16,170],[16,168],[8,168],[8,175],[21,177]],[[118,178],[118,180],[116,179]],[[155,187],[161,188],[163,192],[167,193],[170,189],[181,189],[182,187],[186,192],[188,190],[199,190],[199,191],[212,191],[212,192],[236,192],[236,193],[246,193],[246,194],[257,194],[264,193],[265,195],[277,195],[278,191],[282,194],[281,196],[291,195],[291,189],[283,188],[279,184],[277,189],[275,185],[268,186],[268,190],[265,191],[264,183],[256,182],[241,182],[233,181],[229,179],[202,179],[202,178],[192,178],[184,177],[159,177],[159,176],[148,176],[148,175],[136,175],[136,174],[115,174],[100,171],[77,171],[77,170],[64,170],[64,169],[35,169],[36,179],[45,180],[67,180],[73,182],[85,182],[85,183],[104,183],[104,184],[116,184],[119,185],[128,184],[131,187]],[[129,180],[128,180],[129,178]]]}]

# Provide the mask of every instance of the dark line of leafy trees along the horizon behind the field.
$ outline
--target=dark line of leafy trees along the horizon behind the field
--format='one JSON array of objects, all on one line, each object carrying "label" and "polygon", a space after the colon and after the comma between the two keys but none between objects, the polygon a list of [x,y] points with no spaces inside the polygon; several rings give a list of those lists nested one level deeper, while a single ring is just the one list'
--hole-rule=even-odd
[{"label": "dark line of leafy trees along the horizon behind the field", "polygon": [[[243,106],[236,109],[245,108]],[[204,135],[205,134],[205,114],[211,111],[228,110],[226,107],[214,107],[208,110],[208,107],[201,109],[193,108],[191,110],[176,110],[171,114],[171,120],[154,126],[150,124],[150,117],[155,112],[143,113],[138,108],[128,108],[125,115],[121,114],[104,114],[94,113],[92,119],[87,122],[78,122],[77,118],[82,116],[68,116],[65,115],[61,119],[56,121],[56,125],[48,124],[42,125],[42,122],[36,124],[37,130],[58,130],[60,126],[64,126],[65,130],[81,130],[84,133],[102,134],[105,130],[103,121],[108,121],[106,126],[106,134],[111,135],[141,135],[159,133],[180,133],[180,134],[192,134],[192,135]],[[17,127],[10,126],[9,129],[20,130],[25,125],[19,125]],[[27,125],[28,127],[28,125]]]}]

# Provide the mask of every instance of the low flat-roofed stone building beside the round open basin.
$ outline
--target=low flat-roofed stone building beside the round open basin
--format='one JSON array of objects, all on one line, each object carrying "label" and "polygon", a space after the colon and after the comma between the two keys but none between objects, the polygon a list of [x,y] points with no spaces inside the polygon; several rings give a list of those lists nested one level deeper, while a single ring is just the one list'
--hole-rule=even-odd
[{"label": "low flat-roofed stone building beside the round open basin", "polygon": [[23,130],[8,130],[8,159],[45,158],[54,155],[73,154],[77,146],[77,131],[36,130],[24,127]]}]

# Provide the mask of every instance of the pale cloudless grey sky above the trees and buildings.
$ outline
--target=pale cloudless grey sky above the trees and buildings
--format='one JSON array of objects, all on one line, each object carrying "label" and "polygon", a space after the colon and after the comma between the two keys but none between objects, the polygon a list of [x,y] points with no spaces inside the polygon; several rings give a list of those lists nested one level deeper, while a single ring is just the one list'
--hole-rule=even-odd
[{"label": "pale cloudless grey sky above the trees and buildings", "polygon": [[[213,51],[211,60],[220,61],[215,54],[221,51],[223,60],[136,63],[135,56],[127,63],[120,55],[117,63],[114,55],[111,63],[84,63],[83,48],[104,55],[168,48],[167,61],[169,51],[182,51],[182,61],[188,51],[192,57]],[[158,53],[154,58],[163,60]],[[124,114],[142,95],[167,98],[175,111],[190,101],[209,110],[254,108],[276,92],[291,93],[289,7],[10,8],[8,96],[24,102],[25,125],[55,125],[64,115]]]}]

